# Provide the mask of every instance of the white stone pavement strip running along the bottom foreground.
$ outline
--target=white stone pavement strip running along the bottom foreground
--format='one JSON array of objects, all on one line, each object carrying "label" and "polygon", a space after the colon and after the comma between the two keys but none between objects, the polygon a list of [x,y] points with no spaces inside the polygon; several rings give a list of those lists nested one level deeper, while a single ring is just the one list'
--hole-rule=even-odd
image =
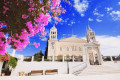
[{"label": "white stone pavement strip running along the bottom foreground", "polygon": [[28,77],[6,76],[0,77],[0,80],[120,80],[120,74],[88,75],[88,76],[75,76],[72,74],[42,75]]}]

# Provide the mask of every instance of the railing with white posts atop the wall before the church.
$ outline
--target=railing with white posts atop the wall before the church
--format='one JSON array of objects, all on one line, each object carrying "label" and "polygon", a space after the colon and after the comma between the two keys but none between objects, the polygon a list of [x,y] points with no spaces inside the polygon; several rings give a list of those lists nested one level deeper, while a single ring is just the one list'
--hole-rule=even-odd
[{"label": "railing with white posts atop the wall before the church", "polygon": [[81,56],[19,56],[18,59],[19,61],[25,62],[83,62],[83,58]]}]

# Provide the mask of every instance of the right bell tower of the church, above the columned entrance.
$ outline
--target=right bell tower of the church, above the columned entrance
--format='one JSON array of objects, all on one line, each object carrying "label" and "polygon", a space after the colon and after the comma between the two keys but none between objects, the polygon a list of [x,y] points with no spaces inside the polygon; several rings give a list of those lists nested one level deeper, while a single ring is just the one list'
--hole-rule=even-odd
[{"label": "right bell tower of the church, above the columned entrance", "polygon": [[88,42],[88,43],[96,42],[95,32],[92,31],[92,29],[91,29],[89,26],[88,26],[86,38],[87,38],[87,42]]}]

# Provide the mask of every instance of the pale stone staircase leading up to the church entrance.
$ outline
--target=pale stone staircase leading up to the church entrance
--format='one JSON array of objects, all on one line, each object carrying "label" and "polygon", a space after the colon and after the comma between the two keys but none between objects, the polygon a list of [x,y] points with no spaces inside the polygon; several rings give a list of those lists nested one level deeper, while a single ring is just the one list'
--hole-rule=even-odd
[{"label": "pale stone staircase leading up to the church entrance", "polygon": [[90,65],[87,66],[83,71],[78,71],[77,76],[87,76],[87,75],[104,75],[120,73],[120,67],[114,65]]}]

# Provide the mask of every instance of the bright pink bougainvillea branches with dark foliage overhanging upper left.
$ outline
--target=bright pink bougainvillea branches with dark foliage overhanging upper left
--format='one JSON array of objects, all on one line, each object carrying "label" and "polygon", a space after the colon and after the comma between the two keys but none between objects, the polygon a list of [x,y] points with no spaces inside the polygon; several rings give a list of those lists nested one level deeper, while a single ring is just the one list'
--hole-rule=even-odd
[{"label": "bright pink bougainvillea branches with dark foliage overhanging upper left", "polygon": [[65,13],[60,3],[61,0],[0,0],[0,54],[5,55],[8,44],[22,50],[30,43],[30,37],[37,33],[45,36],[50,18],[60,21],[58,16]]}]

